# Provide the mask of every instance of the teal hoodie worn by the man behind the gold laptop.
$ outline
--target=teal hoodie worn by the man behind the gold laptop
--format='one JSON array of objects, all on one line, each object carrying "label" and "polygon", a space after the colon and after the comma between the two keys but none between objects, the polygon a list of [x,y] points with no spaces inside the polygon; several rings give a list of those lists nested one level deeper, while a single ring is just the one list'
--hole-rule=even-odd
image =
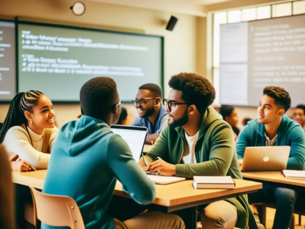
[{"label": "teal hoodie worn by the man behind the gold laptop", "polygon": [[[284,115],[278,128],[275,145],[291,147],[287,169],[304,170],[305,134],[300,124]],[[239,133],[236,141],[238,159],[244,157],[247,146],[266,146],[265,125],[259,124],[257,118],[249,121],[248,125]]]}]

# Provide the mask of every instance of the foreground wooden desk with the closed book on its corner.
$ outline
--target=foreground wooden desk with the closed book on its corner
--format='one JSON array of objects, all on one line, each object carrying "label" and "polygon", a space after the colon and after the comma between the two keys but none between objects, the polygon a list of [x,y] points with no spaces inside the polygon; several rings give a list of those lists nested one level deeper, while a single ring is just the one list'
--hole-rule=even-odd
[{"label": "foreground wooden desk with the closed book on its corner", "polygon": [[[46,172],[47,170],[26,173],[12,172],[13,182],[42,189]],[[195,229],[197,228],[196,206],[255,192],[263,187],[261,183],[249,180],[235,180],[235,183],[234,189],[197,190],[192,186],[192,180],[156,185],[157,195],[153,204],[158,205],[160,210],[167,213],[186,209],[184,219],[186,228]],[[114,194],[130,198],[126,192],[122,191],[120,182],[117,182]]]}]

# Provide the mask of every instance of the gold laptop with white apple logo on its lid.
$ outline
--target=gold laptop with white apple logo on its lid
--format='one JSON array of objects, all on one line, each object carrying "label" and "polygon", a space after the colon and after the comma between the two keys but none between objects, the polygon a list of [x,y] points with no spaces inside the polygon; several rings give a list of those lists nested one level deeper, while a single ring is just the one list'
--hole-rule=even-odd
[{"label": "gold laptop with white apple logo on its lid", "polygon": [[246,147],[242,171],[281,171],[286,169],[290,146]]}]

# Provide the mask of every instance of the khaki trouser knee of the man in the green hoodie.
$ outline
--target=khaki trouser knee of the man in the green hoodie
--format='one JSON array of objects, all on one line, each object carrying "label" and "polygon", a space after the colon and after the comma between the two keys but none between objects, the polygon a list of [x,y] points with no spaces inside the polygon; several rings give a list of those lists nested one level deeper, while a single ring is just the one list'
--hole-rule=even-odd
[{"label": "khaki trouser knee of the man in the green hoodie", "polygon": [[221,200],[207,205],[200,217],[203,229],[232,229],[237,222],[237,208]]}]

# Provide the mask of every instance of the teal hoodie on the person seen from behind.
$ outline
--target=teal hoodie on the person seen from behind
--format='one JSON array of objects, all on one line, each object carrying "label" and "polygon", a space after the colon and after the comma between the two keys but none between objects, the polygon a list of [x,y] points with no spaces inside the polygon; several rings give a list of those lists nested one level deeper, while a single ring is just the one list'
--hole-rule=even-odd
[{"label": "teal hoodie on the person seen from behind", "polygon": [[[150,204],[156,198],[156,185],[133,159],[127,143],[105,122],[83,115],[63,125],[42,192],[72,197],[87,229],[113,229],[114,221],[105,212],[117,180],[139,204]],[[67,227],[42,224],[41,228]]]}]

